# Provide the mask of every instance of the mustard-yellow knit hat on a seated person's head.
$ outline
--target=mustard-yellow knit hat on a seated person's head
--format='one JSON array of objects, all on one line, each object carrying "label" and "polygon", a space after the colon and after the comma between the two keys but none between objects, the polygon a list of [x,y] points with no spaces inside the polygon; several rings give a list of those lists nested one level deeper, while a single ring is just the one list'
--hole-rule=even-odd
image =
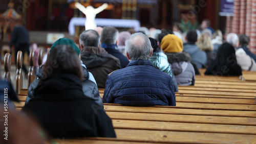
[{"label": "mustard-yellow knit hat on a seated person's head", "polygon": [[183,42],[176,35],[168,34],[162,39],[161,49],[164,53],[180,53],[183,51]]}]

